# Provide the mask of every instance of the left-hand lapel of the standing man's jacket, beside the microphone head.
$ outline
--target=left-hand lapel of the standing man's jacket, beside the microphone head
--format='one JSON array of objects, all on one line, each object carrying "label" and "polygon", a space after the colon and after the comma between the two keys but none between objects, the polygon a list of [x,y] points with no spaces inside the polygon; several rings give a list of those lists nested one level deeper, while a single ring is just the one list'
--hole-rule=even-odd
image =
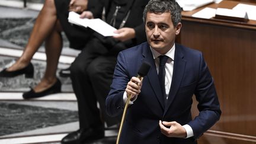
[{"label": "left-hand lapel of the standing man's jacket, beside the microphone head", "polygon": [[153,55],[148,44],[146,44],[146,46],[144,47],[142,55],[143,55],[142,62],[146,61],[151,64],[151,68],[149,69],[147,77],[153,91],[155,92],[158,102],[161,104],[162,110],[164,110],[164,107],[165,107],[164,98],[162,97],[162,93],[161,93],[161,87],[159,84],[155,61],[153,59]]}]

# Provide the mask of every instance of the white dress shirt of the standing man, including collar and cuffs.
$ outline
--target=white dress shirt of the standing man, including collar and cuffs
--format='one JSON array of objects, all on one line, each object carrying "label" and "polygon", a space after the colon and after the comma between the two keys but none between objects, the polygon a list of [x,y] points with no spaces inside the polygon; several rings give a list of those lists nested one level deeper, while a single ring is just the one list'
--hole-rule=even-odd
[{"label": "white dress shirt of the standing man, including collar and cuffs", "polygon": [[[155,60],[156,71],[158,72],[159,71],[159,57],[158,56],[161,56],[161,54],[156,52],[156,50],[152,49],[152,47],[151,47],[151,52],[153,55],[153,59]],[[174,53],[175,53],[175,44],[174,44],[174,46],[172,46],[172,48],[167,53],[165,53],[165,55],[169,57],[169,59],[167,60],[167,63],[165,63],[165,92],[167,94],[167,99],[168,99],[169,89],[171,88],[171,82],[172,82],[172,73],[173,73],[173,68],[174,68]],[[133,104],[133,102],[136,99],[137,99],[137,95],[135,96],[133,101],[129,101],[129,104]],[[123,100],[124,100],[124,103],[126,103],[127,94],[125,91],[124,91],[124,95],[123,95]],[[185,131],[187,132],[187,137],[185,137],[185,138],[194,136],[191,126],[189,126],[188,124],[185,124],[183,127],[184,127]]]}]

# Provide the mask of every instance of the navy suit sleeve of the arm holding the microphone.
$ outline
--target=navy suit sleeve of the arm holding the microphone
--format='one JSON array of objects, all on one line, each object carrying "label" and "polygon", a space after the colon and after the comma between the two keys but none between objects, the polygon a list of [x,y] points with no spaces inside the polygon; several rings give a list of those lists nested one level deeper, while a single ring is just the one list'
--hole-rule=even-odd
[{"label": "navy suit sleeve of the arm holding the microphone", "polygon": [[130,81],[126,68],[126,60],[124,59],[123,53],[120,52],[117,57],[111,90],[105,101],[106,111],[109,116],[117,116],[123,111],[123,94],[127,83]]}]

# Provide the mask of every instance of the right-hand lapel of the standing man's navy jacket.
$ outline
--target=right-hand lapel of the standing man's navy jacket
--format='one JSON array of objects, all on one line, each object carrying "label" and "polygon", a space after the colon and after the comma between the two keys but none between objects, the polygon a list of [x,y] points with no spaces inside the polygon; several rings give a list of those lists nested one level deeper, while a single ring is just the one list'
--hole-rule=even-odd
[{"label": "right-hand lapel of the standing man's navy jacket", "polygon": [[180,88],[181,80],[184,75],[185,64],[186,61],[184,59],[184,55],[181,51],[182,47],[176,44],[175,54],[174,54],[174,70],[172,73],[172,83],[171,88],[168,95],[167,105],[165,107],[165,113],[167,112],[169,106],[171,105],[172,101],[174,100],[178,89]]}]

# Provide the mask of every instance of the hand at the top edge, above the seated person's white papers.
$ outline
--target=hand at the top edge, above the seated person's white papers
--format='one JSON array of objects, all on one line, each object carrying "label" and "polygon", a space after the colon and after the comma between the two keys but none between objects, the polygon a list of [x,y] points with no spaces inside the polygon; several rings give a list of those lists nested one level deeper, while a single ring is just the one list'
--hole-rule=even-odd
[{"label": "hand at the top edge, above the seated person's white papers", "polygon": [[88,0],[71,0],[69,3],[69,11],[83,12],[87,10]]}]

